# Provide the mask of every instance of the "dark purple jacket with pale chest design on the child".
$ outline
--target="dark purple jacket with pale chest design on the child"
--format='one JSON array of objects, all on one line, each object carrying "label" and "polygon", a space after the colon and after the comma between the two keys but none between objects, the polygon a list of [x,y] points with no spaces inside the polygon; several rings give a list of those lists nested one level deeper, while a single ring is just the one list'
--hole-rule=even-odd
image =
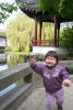
[{"label": "dark purple jacket with pale chest design on the child", "polygon": [[62,88],[62,81],[69,79],[69,73],[61,65],[52,68],[42,64],[31,65],[31,67],[41,75],[46,91],[53,94]]}]

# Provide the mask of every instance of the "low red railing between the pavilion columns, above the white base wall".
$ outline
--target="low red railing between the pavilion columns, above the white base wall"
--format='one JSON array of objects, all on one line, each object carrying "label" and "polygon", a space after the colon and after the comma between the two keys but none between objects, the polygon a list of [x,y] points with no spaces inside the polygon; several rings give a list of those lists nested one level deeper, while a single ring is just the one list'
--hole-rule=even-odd
[{"label": "low red railing between the pavilion columns, above the white base wall", "polygon": [[54,46],[54,40],[37,40],[32,43],[33,46]]}]

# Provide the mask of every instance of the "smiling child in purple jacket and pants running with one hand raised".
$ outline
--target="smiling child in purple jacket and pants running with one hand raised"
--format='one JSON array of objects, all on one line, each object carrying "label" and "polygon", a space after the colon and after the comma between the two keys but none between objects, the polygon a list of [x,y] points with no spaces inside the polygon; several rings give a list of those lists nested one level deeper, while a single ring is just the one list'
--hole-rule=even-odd
[{"label": "smiling child in purple jacket and pants running with one hand raised", "polygon": [[32,58],[29,61],[31,67],[41,75],[44,86],[47,92],[48,110],[53,110],[54,98],[58,106],[58,110],[63,110],[63,87],[62,84],[66,87],[71,85],[69,74],[58,64],[59,58],[58,54],[54,51],[49,51],[45,56],[46,64],[36,64],[36,59]]}]

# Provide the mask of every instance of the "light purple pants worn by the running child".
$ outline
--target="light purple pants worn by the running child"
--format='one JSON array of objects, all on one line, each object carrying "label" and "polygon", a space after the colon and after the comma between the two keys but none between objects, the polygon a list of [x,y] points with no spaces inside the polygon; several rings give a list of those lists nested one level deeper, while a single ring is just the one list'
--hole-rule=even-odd
[{"label": "light purple pants worn by the running child", "polygon": [[58,106],[61,106],[63,103],[63,101],[64,101],[63,88],[54,94],[47,92],[48,110],[53,110],[54,99],[56,99],[56,102]]}]

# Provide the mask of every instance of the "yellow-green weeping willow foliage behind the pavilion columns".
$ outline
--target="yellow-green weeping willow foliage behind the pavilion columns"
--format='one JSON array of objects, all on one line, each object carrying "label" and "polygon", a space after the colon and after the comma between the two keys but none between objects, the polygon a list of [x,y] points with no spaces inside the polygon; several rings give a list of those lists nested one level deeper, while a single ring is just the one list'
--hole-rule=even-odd
[{"label": "yellow-green weeping willow foliage behind the pavilion columns", "polygon": [[[37,31],[39,40],[39,25]],[[35,21],[25,14],[20,14],[8,25],[8,42],[15,52],[29,52],[29,44],[35,38]],[[53,24],[42,23],[42,40],[53,38]]]}]

